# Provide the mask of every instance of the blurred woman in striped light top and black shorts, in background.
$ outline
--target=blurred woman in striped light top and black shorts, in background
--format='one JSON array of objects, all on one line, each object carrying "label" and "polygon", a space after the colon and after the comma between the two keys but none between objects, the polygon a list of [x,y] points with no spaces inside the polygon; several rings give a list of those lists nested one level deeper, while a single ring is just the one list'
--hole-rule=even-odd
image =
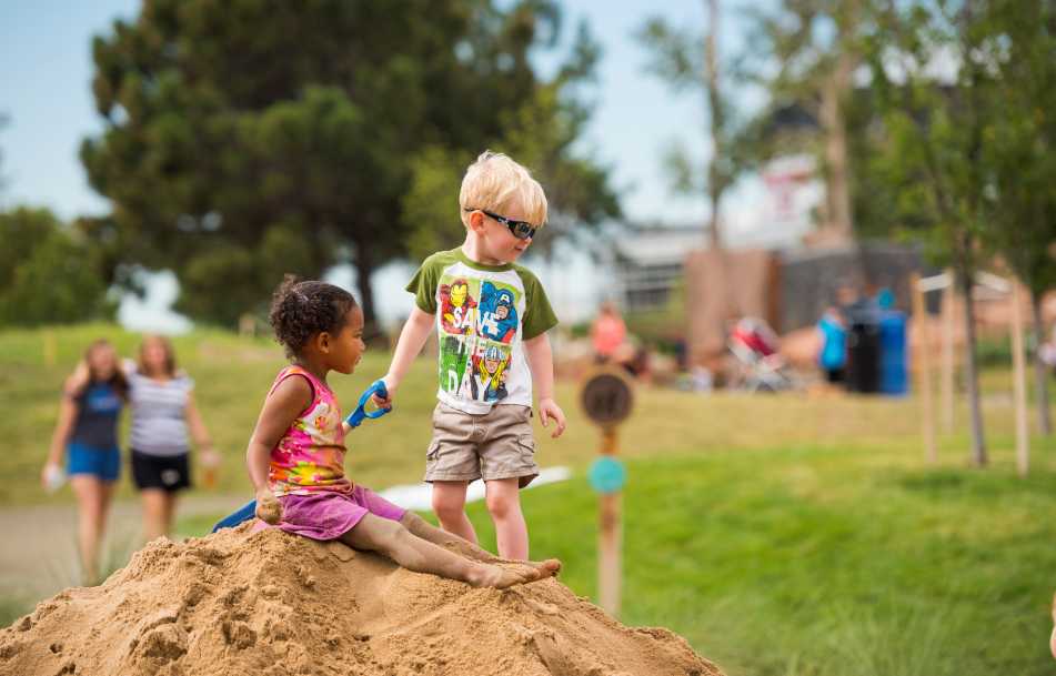
[{"label": "blurred woman in striped light top and black shorts, in background", "polygon": [[194,381],[177,369],[168,339],[145,336],[139,360],[127,360],[124,369],[132,412],[132,480],[143,507],[143,534],[150,542],[169,535],[177,496],[191,487],[189,436],[203,464],[215,465],[219,457],[194,403]]}]

